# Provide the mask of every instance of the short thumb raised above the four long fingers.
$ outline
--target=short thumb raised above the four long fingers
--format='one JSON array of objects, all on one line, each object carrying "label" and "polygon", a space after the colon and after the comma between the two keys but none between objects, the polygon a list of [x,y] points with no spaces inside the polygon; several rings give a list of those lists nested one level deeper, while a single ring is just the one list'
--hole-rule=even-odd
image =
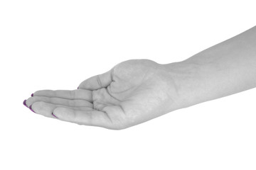
[{"label": "short thumb raised above the four long fingers", "polygon": [[78,86],[78,89],[97,90],[110,85],[112,81],[112,69],[104,74],[90,77]]}]

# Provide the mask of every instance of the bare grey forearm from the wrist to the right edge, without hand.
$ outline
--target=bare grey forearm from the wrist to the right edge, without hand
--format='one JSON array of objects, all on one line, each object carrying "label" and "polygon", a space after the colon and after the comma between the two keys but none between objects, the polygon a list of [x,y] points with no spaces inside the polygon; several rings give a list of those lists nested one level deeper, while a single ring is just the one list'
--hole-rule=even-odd
[{"label": "bare grey forearm from the wrist to the right edge, without hand", "polygon": [[252,89],[256,87],[256,27],[166,67],[174,72],[184,106]]}]

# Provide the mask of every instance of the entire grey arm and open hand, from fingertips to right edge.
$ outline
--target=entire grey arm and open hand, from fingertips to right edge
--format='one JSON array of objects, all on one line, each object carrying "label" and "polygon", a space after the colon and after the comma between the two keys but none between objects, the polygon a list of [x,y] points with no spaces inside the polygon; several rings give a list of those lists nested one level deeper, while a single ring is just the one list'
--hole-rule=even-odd
[{"label": "entire grey arm and open hand, from fingertips to right edge", "polygon": [[256,87],[256,26],[171,64],[129,60],[77,90],[41,90],[26,106],[49,118],[121,130]]}]

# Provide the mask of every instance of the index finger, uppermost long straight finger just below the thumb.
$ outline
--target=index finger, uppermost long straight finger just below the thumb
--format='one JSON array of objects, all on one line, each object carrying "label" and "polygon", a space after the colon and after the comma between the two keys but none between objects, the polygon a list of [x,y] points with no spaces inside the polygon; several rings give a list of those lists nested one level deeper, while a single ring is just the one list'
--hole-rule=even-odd
[{"label": "index finger, uppermost long straight finger just below the thumb", "polygon": [[33,96],[46,96],[65,99],[82,99],[92,102],[92,91],[89,90],[41,90],[36,91]]}]

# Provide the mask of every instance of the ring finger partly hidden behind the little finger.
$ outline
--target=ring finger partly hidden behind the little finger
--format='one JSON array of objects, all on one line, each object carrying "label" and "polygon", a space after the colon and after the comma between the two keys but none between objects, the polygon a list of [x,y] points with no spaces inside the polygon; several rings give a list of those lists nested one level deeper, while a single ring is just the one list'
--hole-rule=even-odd
[{"label": "ring finger partly hidden behind the little finger", "polygon": [[58,107],[69,108],[69,109],[73,109],[75,111],[93,111],[92,108],[68,107],[68,106],[54,105],[54,104],[46,103],[43,101],[37,101],[37,102],[33,103],[29,108],[31,109],[31,111],[33,111],[35,113],[45,115],[50,118],[56,118],[52,113],[53,113],[53,110]]}]

